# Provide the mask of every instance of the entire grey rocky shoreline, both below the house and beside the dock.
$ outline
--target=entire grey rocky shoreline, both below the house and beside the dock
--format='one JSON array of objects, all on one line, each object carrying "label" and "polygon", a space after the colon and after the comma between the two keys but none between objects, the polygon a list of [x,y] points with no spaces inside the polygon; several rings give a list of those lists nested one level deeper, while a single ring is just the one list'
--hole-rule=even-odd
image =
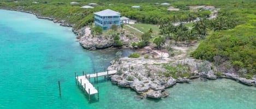
[{"label": "entire grey rocky shoreline, both below the house and beside the dock", "polygon": [[[0,8],[5,9],[5,8]],[[24,11],[18,9],[5,9],[13,11],[27,12],[29,14],[35,15],[37,18],[53,21],[54,23],[60,23],[59,25],[64,27],[73,27],[73,24],[65,23],[65,21],[55,20],[55,18],[42,17],[38,14],[35,14],[31,11]],[[83,27],[79,30],[72,29],[73,33],[76,34],[76,39],[79,40],[79,43],[85,49],[95,50],[95,49],[104,49],[115,46],[113,39],[106,37],[94,37],[91,34],[91,30],[88,27]],[[130,46],[130,40],[125,35],[120,35],[121,40],[124,42],[124,47],[132,48]],[[133,37],[134,40],[136,37]],[[156,53],[154,53],[156,54]],[[139,57],[139,59],[130,59],[128,57],[123,57],[118,61],[111,61],[111,66],[108,67],[108,70],[118,69],[118,74],[111,76],[111,81],[113,84],[117,84],[120,87],[130,87],[134,89],[137,93],[141,94],[141,97],[156,98],[160,99],[168,96],[168,93],[165,92],[165,88],[169,88],[175,85],[178,82],[189,83],[192,79],[197,78],[206,78],[215,80],[218,78],[227,78],[233,79],[237,82],[241,82],[245,85],[255,86],[256,79],[249,80],[246,78],[241,78],[239,75],[234,73],[225,72],[219,76],[215,74],[216,68],[211,68],[212,65],[209,63],[206,69],[209,69],[206,72],[202,72],[201,69],[198,69],[198,66],[202,64],[201,60],[194,59],[183,59],[177,60],[174,58],[159,58],[158,55],[147,54],[150,56],[149,59],[144,57]],[[182,64],[183,62],[183,64]],[[189,73],[175,76],[174,74],[164,74],[164,72],[170,72],[170,70],[165,66],[168,64],[168,68],[180,67],[180,66],[189,66]],[[170,66],[169,66],[170,65]],[[171,67],[172,66],[172,67]],[[175,69],[177,70],[177,69]],[[186,69],[184,69],[186,70]],[[188,69],[187,69],[188,71]],[[184,73],[183,69],[178,72]]]}]

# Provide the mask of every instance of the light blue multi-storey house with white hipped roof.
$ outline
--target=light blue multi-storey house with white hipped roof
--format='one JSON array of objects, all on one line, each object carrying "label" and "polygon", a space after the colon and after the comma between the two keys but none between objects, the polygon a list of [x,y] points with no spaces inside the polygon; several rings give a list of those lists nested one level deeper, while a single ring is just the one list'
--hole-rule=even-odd
[{"label": "light blue multi-storey house with white hipped roof", "polygon": [[117,25],[120,27],[120,13],[106,9],[103,11],[94,13],[94,24],[95,26],[100,26],[103,30],[109,29],[112,25]]}]

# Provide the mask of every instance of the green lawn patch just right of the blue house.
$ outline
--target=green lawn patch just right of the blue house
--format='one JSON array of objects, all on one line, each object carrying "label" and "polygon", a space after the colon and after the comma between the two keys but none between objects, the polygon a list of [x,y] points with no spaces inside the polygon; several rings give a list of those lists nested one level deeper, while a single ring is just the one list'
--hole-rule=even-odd
[{"label": "green lawn patch just right of the blue house", "polygon": [[150,28],[153,29],[152,35],[158,35],[159,33],[159,27],[155,24],[144,24],[144,23],[135,23],[135,24],[129,24],[130,26],[137,28],[138,30],[147,33]]}]

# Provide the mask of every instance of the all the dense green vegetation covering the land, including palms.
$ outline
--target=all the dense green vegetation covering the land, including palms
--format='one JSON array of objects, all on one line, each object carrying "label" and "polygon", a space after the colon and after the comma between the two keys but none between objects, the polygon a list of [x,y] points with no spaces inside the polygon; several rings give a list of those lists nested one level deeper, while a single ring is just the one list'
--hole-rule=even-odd
[{"label": "all the dense green vegetation covering the land, including palms", "polygon": [[[0,8],[21,9],[37,13],[40,16],[53,17],[57,20],[64,20],[67,23],[75,24],[74,28],[79,29],[85,25],[93,23],[93,12],[104,9],[112,9],[121,13],[122,16],[129,17],[141,23],[158,24],[159,33],[165,39],[184,41],[188,46],[195,38],[205,39],[200,43],[195,52],[191,55],[196,59],[208,60],[215,62],[217,66],[224,65],[234,69],[242,76],[250,78],[256,74],[256,1],[255,0],[96,0],[82,1],[78,5],[70,5],[72,0],[38,0],[39,4],[32,3],[32,0],[23,0],[14,3],[10,0],[0,2]],[[98,3],[94,9],[82,9],[83,5],[88,3]],[[154,5],[154,3],[168,2],[172,7],[181,8],[181,11],[169,11],[168,6]],[[131,8],[133,5],[140,5],[140,9]],[[218,17],[213,20],[207,20],[203,17],[209,16],[210,11],[193,11],[188,10],[190,5],[213,5],[219,10]],[[201,17],[201,21],[189,23],[186,25],[178,25],[174,27],[173,22],[186,21],[189,22],[197,17]],[[170,22],[171,21],[171,22]],[[144,33],[149,32],[156,35],[155,27],[146,27],[145,25],[132,25]],[[189,29],[193,28],[193,29]],[[126,25],[124,29],[130,29]],[[146,29],[147,28],[147,29]],[[152,30],[150,30],[150,28]],[[95,28],[97,31],[97,28]],[[148,31],[145,31],[148,30]],[[97,34],[102,34],[99,30]],[[157,30],[158,31],[158,30]],[[151,33],[152,32],[152,33]],[[141,33],[134,31],[137,36]],[[144,34],[145,35],[145,34]],[[133,46],[144,47],[150,39],[143,38],[141,35],[139,43],[133,43]],[[116,39],[118,39],[116,37]],[[117,41],[117,40],[116,40]],[[162,39],[156,38],[158,42]],[[118,42],[117,42],[118,43]],[[121,44],[121,43],[120,43]],[[160,47],[158,47],[160,48]]]}]

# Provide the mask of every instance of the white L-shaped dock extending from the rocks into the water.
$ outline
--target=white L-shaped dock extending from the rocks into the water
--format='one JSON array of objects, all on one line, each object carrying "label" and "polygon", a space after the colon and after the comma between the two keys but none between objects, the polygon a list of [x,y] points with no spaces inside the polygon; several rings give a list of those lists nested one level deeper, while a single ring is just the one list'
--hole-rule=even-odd
[{"label": "white L-shaped dock extending from the rocks into the water", "polygon": [[[100,73],[94,73],[94,74],[84,74],[82,76],[78,76],[75,74],[75,79],[76,79],[76,84],[82,87],[82,89],[84,89],[85,93],[88,94],[88,100],[91,100],[90,95],[93,94],[98,94],[98,99],[99,99],[99,92],[98,92],[98,87],[97,89],[91,84],[90,79],[94,78],[94,81],[97,79],[98,81],[98,77],[99,76],[109,76],[109,75],[114,75],[116,74],[116,70],[110,70],[110,71],[106,71],[106,72],[100,72]],[[89,80],[88,80],[89,79]]]}]

